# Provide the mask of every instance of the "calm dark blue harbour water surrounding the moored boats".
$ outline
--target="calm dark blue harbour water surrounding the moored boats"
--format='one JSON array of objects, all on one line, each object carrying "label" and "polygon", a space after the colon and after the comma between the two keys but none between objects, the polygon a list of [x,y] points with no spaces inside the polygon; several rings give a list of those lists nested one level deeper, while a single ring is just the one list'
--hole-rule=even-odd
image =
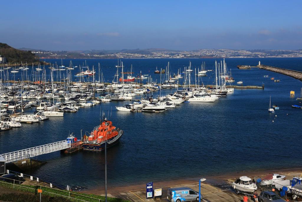
[{"label": "calm dark blue harbour water surrounding the moored boats", "polygon": [[[51,62],[60,60],[49,60]],[[84,60],[72,60],[82,65]],[[165,68],[168,61],[172,72],[188,66],[197,67],[202,61],[207,69],[214,59],[124,59],[126,70],[133,64],[138,74],[153,75],[156,68]],[[69,132],[80,137],[80,130],[90,132],[99,124],[100,108],[112,109],[114,125],[124,130],[120,144],[108,150],[108,184],[110,186],[137,184],[159,180],[226,174],[243,170],[269,170],[299,167],[302,141],[302,111],[291,108],[301,104],[302,83],[294,78],[261,70],[239,70],[237,65],[257,65],[259,58],[228,58],[226,63],[235,81],[244,85],[262,85],[264,90],[235,89],[226,98],[214,103],[183,103],[163,113],[128,113],[116,111],[116,105],[128,102],[102,103],[66,113],[62,118],[50,118],[38,124],[23,124],[0,134],[0,153],[64,140]],[[262,64],[302,71],[302,58],[261,58]],[[63,60],[68,66],[69,60]],[[101,67],[104,77],[111,81],[117,60],[87,60],[89,66]],[[76,72],[74,73],[76,74]],[[263,78],[269,75],[269,78]],[[98,76],[97,76],[98,77]],[[280,79],[279,83],[270,80]],[[212,84],[213,76],[203,77]],[[193,81],[194,83],[194,81]],[[236,84],[236,82],[235,82]],[[290,97],[290,91],[296,97]],[[163,91],[163,94],[171,90]],[[156,95],[156,94],[154,94]],[[269,114],[269,96],[280,110]],[[137,96],[135,99],[139,99]],[[110,112],[109,112],[110,114]],[[275,117],[277,115],[277,117]],[[110,115],[109,115],[110,116]],[[272,122],[274,121],[274,122]],[[66,155],[59,152],[38,157],[48,163],[31,174],[66,186],[76,184],[88,188],[104,184],[104,154],[79,152]]]}]

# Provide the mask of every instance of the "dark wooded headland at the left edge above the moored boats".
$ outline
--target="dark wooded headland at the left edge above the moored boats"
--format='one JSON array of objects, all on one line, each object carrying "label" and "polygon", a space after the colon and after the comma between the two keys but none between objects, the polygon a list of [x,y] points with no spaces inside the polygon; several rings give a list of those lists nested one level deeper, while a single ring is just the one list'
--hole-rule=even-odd
[{"label": "dark wooded headland at the left edge above the moored boats", "polygon": [[31,51],[18,50],[4,43],[0,43],[0,55],[4,56],[10,64],[21,62],[37,64],[40,62]]}]

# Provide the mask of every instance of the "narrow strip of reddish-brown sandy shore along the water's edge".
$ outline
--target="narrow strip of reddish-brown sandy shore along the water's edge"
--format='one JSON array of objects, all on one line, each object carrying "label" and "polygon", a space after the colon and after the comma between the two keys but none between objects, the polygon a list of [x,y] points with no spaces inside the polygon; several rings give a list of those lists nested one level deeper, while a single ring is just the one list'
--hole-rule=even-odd
[{"label": "narrow strip of reddish-brown sandy shore along the water's edge", "polygon": [[[205,177],[207,180],[204,181],[206,184],[217,184],[217,183],[224,183],[228,179],[235,179],[240,176],[249,176],[249,177],[260,177],[265,176],[269,173],[301,173],[302,168],[288,168],[288,169],[277,169],[277,170],[269,170],[269,171],[240,171],[236,173],[231,174],[225,174],[225,175],[216,175],[216,176],[201,176]],[[153,181],[153,188],[165,188],[165,187],[173,187],[173,186],[182,186],[185,184],[195,184],[198,183],[198,180],[201,177],[195,177],[195,178],[187,178],[187,179],[179,179],[179,180],[165,180],[165,181]],[[138,191],[138,190],[145,190],[146,184],[136,184],[136,185],[128,185],[128,186],[110,186],[108,187],[108,193],[112,196],[115,196],[117,193],[120,192],[129,192],[129,191]],[[92,189],[87,189],[81,191],[83,193],[87,194],[104,194],[104,187],[95,187]]]}]

